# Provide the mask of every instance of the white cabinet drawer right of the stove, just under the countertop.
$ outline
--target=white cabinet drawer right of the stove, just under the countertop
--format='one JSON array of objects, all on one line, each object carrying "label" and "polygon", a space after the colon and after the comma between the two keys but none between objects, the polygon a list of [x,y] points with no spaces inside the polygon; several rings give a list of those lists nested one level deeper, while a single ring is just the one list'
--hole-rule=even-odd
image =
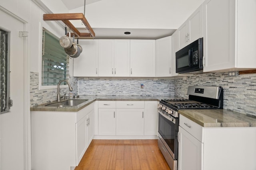
[{"label": "white cabinet drawer right of the stove, just under the countertop", "polygon": [[185,129],[188,133],[194,136],[198,141],[202,142],[203,127],[195,123],[194,121],[184,117],[180,114],[179,125]]}]

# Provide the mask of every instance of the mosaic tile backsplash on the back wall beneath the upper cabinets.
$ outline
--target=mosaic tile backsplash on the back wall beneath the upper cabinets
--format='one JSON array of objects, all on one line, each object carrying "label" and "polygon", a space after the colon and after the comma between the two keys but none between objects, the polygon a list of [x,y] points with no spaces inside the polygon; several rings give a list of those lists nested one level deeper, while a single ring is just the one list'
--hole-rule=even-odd
[{"label": "mosaic tile backsplash on the back wall beneath the upper cabinets", "polygon": [[80,95],[174,96],[174,80],[78,78],[78,87]]}]

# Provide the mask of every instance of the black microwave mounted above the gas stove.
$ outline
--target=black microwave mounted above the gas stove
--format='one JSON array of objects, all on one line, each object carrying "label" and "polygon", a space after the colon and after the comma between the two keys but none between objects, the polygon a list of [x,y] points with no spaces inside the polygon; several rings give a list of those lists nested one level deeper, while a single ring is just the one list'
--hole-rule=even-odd
[{"label": "black microwave mounted above the gas stove", "polygon": [[176,52],[176,73],[202,72],[203,38]]}]

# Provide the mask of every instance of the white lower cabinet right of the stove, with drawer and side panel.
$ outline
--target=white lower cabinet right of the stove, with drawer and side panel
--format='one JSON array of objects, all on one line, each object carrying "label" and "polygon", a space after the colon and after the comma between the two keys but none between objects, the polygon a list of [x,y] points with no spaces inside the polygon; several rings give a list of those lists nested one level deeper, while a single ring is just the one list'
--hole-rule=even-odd
[{"label": "white lower cabinet right of the stove, with drawer and side panel", "polygon": [[256,127],[202,127],[180,115],[178,170],[256,170]]}]

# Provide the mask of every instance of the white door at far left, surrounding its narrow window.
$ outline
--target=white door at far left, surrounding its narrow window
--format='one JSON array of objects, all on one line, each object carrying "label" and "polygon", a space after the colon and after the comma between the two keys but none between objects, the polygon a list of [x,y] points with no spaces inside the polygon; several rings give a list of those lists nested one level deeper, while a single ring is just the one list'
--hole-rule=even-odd
[{"label": "white door at far left, surrounding its narrow window", "polygon": [[0,28],[10,32],[10,112],[0,115],[0,169],[24,170],[24,23],[0,10]]}]

